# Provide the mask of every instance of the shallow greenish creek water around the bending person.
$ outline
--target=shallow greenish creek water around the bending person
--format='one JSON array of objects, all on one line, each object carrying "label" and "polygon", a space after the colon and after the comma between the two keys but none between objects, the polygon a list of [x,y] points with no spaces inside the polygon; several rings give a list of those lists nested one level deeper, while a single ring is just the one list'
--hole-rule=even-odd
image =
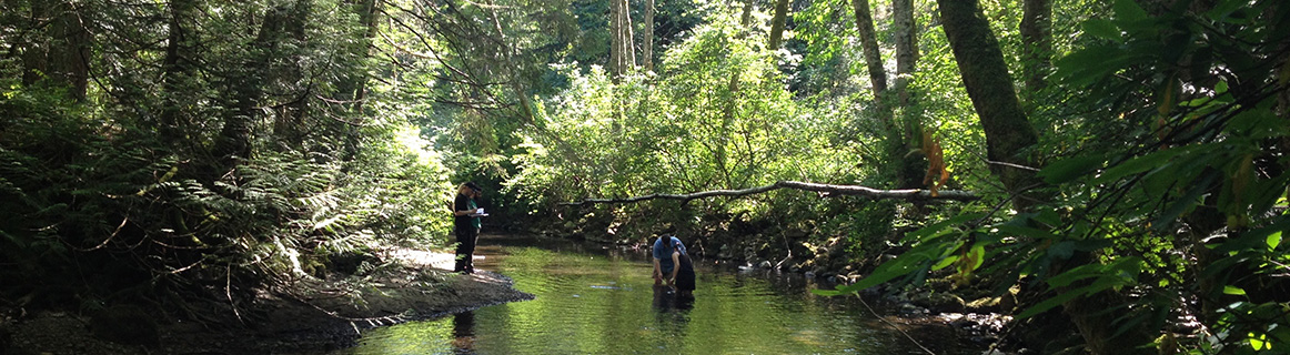
[{"label": "shallow greenish creek water around the bending person", "polygon": [[[653,287],[648,248],[499,236],[476,254],[537,299],[369,329],[338,354],[928,354],[796,274],[695,259],[694,301],[677,302]],[[935,354],[980,354],[944,327],[903,327]]]}]

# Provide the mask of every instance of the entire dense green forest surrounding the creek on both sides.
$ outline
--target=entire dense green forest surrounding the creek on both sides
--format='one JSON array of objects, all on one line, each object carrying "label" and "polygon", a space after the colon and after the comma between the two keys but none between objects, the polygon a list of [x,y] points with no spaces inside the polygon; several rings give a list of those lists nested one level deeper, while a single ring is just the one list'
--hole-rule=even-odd
[{"label": "entire dense green forest surrounding the creek on both sides", "polygon": [[[1277,0],[4,0],[0,37],[10,307],[250,307],[452,243],[476,181],[486,228],[1015,298],[1080,334],[1044,352],[1290,346]],[[924,191],[566,204],[779,181]]]}]

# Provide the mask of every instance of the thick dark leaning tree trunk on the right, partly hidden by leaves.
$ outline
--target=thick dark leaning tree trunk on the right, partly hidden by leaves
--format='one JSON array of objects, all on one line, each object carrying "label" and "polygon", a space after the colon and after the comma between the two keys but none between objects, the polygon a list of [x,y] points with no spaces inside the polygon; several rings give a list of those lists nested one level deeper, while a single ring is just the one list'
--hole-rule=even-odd
[{"label": "thick dark leaning tree trunk on the right, partly hidden by leaves", "polygon": [[[1037,159],[1029,150],[1038,142],[1038,137],[1017,98],[998,40],[991,32],[977,0],[938,0],[937,4],[940,6],[946,37],[958,63],[964,86],[986,130],[987,156],[995,161],[991,164],[991,170],[1013,194],[1013,205],[1024,210],[1044,200],[1032,192],[1038,179],[1033,172],[1007,164],[1037,165]],[[1090,253],[1078,252],[1066,262],[1055,265],[1050,272],[1055,275],[1060,270],[1091,262],[1096,261]],[[1108,306],[1118,305],[1125,305],[1122,296],[1106,290],[1067,301],[1063,307],[1093,354],[1147,352],[1138,346],[1152,340],[1147,332],[1140,330],[1140,327],[1130,325],[1129,330],[1116,334],[1121,314],[1108,311]]]}]

